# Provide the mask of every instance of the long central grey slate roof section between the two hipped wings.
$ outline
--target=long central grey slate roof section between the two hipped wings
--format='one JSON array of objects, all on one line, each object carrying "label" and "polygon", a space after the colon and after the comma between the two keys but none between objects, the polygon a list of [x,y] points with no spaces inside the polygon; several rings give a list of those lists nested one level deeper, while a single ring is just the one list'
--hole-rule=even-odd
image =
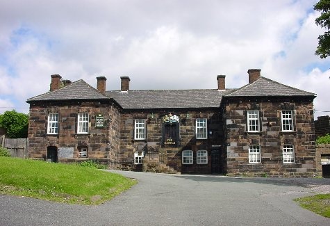
[{"label": "long central grey slate roof section between the two hipped wings", "polygon": [[107,91],[124,109],[218,108],[228,90],[129,90]]}]

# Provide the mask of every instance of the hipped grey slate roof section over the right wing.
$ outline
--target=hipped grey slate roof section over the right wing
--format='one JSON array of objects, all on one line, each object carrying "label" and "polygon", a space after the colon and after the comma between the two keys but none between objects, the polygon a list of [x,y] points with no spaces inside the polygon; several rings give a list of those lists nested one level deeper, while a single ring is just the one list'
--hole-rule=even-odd
[{"label": "hipped grey slate roof section over the right wing", "polygon": [[283,85],[277,81],[264,78],[261,76],[253,83],[247,84],[234,90],[233,92],[226,95],[226,97],[306,97],[313,96],[316,94],[312,92],[306,92],[290,86]]}]

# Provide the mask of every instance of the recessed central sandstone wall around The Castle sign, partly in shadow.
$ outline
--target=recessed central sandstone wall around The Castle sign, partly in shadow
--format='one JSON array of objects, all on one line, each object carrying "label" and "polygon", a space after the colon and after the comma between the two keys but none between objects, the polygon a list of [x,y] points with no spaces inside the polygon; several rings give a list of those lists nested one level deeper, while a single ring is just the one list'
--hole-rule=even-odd
[{"label": "recessed central sandstone wall around The Castle sign, partly in shadow", "polygon": [[[151,113],[154,118],[151,118]],[[168,113],[179,116],[179,147],[166,147],[163,145],[163,115]],[[187,118],[187,113],[188,118]],[[147,139],[134,140],[134,119],[147,120]],[[196,118],[208,119],[208,139],[197,140],[195,138],[195,120]],[[171,166],[176,172],[182,173],[211,173],[211,150],[217,150],[222,156],[222,162],[219,162],[220,171],[224,168],[224,154],[222,152],[223,133],[218,110],[199,111],[164,111],[163,109],[152,112],[131,112],[122,113],[121,135],[120,135],[120,159],[122,161],[133,161],[133,154],[136,150],[146,150],[145,161],[160,161],[155,158],[151,152],[159,152],[160,156],[167,158],[167,166]],[[183,165],[181,163],[182,150],[192,150],[194,152],[194,163],[192,165]],[[197,164],[197,150],[208,151],[208,164]],[[214,165],[214,164],[213,164]]]}]

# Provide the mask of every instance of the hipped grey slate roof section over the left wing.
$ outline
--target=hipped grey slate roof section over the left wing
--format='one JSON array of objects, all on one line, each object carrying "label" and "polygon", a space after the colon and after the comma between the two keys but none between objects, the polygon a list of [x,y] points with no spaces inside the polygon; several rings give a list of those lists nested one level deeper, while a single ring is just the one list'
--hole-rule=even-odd
[{"label": "hipped grey slate roof section over the left wing", "polygon": [[46,92],[42,95],[29,98],[26,102],[69,99],[110,99],[110,97],[102,95],[99,90],[80,79],[53,92]]}]

